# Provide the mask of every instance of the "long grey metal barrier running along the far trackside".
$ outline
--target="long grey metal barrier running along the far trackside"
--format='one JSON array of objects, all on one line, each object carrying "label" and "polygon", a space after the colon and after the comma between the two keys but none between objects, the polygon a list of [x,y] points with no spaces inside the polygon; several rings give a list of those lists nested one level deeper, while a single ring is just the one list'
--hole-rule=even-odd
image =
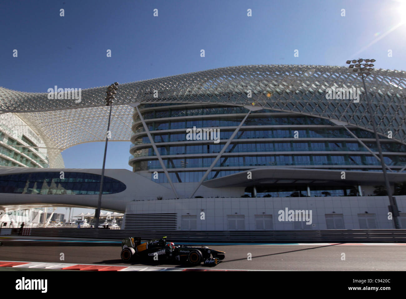
[{"label": "long grey metal barrier running along the far trackside", "polygon": [[[19,229],[11,229],[17,236]],[[404,242],[406,229],[342,229],[311,231],[180,231],[180,230],[108,230],[90,228],[32,228],[24,236],[114,240],[129,236],[149,240],[167,236],[170,242],[219,243],[304,243],[304,242]]]}]

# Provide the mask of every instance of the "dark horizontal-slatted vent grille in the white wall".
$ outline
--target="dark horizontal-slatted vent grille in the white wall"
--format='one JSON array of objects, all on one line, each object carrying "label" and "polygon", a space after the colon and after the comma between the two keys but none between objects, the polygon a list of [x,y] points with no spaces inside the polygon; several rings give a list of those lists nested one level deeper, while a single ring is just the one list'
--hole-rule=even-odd
[{"label": "dark horizontal-slatted vent grille in the white wall", "polygon": [[124,229],[177,229],[177,214],[125,214]]}]

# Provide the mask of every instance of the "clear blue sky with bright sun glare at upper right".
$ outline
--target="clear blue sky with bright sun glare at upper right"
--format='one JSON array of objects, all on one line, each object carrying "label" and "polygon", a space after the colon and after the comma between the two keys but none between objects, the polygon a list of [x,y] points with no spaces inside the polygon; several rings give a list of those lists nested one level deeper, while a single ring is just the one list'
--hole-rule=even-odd
[{"label": "clear blue sky with bright sun glare at upper right", "polygon": [[[24,92],[233,65],[345,65],[359,57],[406,70],[404,1],[29,0],[3,1],[0,16],[0,86]],[[131,170],[129,146],[109,142],[106,168]],[[103,151],[102,142],[73,146],[62,153],[65,167],[101,168]]]}]

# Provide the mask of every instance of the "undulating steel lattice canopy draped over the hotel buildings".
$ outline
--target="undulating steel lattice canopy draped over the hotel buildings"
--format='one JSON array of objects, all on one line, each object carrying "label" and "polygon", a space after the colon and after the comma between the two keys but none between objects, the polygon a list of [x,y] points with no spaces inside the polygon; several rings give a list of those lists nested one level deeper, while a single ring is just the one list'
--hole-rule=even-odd
[{"label": "undulating steel lattice canopy draped over the hotel buildings", "polygon": [[[390,130],[394,140],[406,144],[406,72],[376,69],[366,85],[378,133]],[[359,88],[359,103],[328,100],[326,89],[333,86]],[[158,97],[154,97],[154,90]],[[49,148],[55,148],[50,153],[53,156],[76,144],[105,140],[109,108],[105,96],[106,87],[84,89],[81,102],[76,103],[50,100],[48,93],[0,87],[0,111],[17,113]],[[130,140],[134,108],[128,104],[134,102],[255,105],[340,120],[372,131],[364,96],[361,78],[340,66],[244,65],[125,83],[119,86],[114,101],[110,140]]]}]

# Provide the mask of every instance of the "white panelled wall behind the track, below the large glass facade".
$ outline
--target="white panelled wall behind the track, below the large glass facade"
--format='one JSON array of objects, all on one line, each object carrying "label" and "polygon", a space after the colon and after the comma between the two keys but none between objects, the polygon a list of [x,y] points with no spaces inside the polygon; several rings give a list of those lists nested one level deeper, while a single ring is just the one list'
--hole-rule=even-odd
[{"label": "white panelled wall behind the track, below the large glass facade", "polygon": [[[406,196],[396,196],[401,212],[406,212]],[[376,214],[378,229],[393,229],[388,220],[387,196],[348,197],[267,197],[267,198],[198,198],[162,201],[137,201],[127,205],[126,214],[177,213],[177,227],[181,216],[197,215],[197,230],[228,230],[227,215],[244,214],[245,230],[255,230],[255,214],[272,214],[274,230],[292,230],[294,222],[280,222],[279,210],[311,210],[312,225],[305,229],[327,229],[325,214],[343,214],[345,229],[360,229],[358,213]],[[202,211],[203,210],[203,211]],[[200,219],[201,212],[205,220]]]}]

